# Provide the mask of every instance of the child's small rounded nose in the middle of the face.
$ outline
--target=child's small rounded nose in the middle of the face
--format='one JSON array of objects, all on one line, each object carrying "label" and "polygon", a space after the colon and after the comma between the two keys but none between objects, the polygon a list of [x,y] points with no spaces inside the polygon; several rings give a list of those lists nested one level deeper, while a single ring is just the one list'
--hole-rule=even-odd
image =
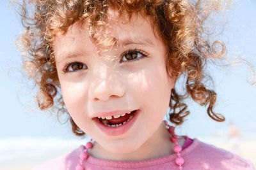
[{"label": "child's small rounded nose in the middle of the face", "polygon": [[108,101],[124,96],[125,87],[121,76],[115,68],[98,67],[97,70],[93,71],[92,78],[90,78],[90,99]]}]

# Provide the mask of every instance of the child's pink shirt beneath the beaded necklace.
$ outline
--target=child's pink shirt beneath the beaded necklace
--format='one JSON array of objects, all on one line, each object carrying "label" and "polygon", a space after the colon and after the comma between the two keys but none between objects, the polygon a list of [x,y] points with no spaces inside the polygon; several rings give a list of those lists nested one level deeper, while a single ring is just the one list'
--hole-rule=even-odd
[{"label": "child's pink shirt beneath the beaded necklace", "polygon": [[[63,155],[57,159],[50,160],[45,164],[35,167],[33,170],[74,170],[79,163],[79,153],[83,152],[83,146],[80,146],[73,152]],[[185,159],[183,170],[253,170],[255,169],[249,160],[227,152],[221,148],[208,145],[198,139],[190,139],[186,136],[186,142],[182,147],[181,156]],[[176,155],[167,155],[158,159],[150,159],[136,162],[123,162],[113,160],[101,160],[94,157],[88,157],[84,166],[86,169],[170,169],[178,170],[175,164]]]}]

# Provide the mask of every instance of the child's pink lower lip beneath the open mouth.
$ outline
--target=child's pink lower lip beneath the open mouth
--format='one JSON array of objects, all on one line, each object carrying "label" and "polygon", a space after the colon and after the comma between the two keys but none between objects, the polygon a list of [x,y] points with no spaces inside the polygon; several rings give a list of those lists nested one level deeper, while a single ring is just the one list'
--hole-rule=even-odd
[{"label": "child's pink lower lip beneath the open mouth", "polygon": [[132,127],[132,125],[138,118],[139,112],[140,112],[140,110],[136,110],[136,112],[134,113],[131,120],[129,120],[129,122],[126,122],[126,124],[120,125],[118,127],[108,127],[106,125],[103,125],[102,123],[100,123],[99,118],[93,118],[93,120],[98,125],[99,129],[102,132],[104,132],[105,134],[107,134],[108,136],[118,136],[118,135],[124,134],[125,132],[129,131],[129,129]]}]

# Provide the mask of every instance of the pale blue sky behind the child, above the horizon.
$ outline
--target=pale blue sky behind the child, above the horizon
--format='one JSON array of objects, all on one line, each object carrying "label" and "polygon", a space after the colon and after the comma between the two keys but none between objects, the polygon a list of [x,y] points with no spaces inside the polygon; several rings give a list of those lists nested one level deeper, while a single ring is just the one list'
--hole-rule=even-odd
[{"label": "pale blue sky behind the child, above the horizon", "polygon": [[[227,57],[243,57],[256,67],[255,9],[255,1],[237,0],[234,6],[221,16],[225,27],[216,38],[223,39],[227,44]],[[55,115],[36,110],[33,100],[35,90],[31,88],[31,83],[22,78],[20,53],[14,46],[15,38],[22,31],[19,16],[6,0],[0,1],[0,21],[0,138],[72,136],[69,125],[60,125]],[[189,101],[191,115],[179,129],[180,133],[202,136],[220,131],[227,132],[228,123],[234,122],[244,134],[256,134],[256,84],[252,86],[247,82],[252,79],[248,67],[209,66],[208,71],[215,81],[218,94],[215,110],[223,113],[227,121],[214,122],[207,116],[205,108]]]}]

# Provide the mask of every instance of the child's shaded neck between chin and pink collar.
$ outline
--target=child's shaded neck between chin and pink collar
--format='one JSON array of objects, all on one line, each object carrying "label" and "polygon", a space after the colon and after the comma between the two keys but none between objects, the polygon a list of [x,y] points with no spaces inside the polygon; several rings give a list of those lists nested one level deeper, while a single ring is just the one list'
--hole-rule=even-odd
[{"label": "child's shaded neck between chin and pink collar", "polygon": [[166,130],[164,123],[162,123],[157,131],[134,152],[112,153],[102,148],[96,142],[93,149],[90,150],[90,155],[97,159],[119,161],[138,161],[164,157],[174,153],[172,150],[174,143],[170,140],[170,136],[171,134]]}]

